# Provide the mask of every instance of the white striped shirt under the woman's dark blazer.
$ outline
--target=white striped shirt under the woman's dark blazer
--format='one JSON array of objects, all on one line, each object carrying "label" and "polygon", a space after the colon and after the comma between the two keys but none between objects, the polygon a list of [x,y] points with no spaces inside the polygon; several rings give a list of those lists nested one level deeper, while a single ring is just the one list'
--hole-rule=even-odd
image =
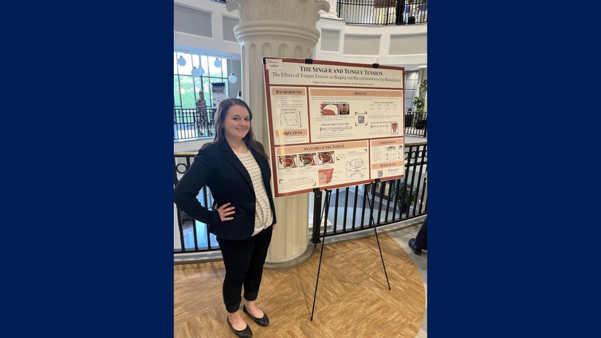
[{"label": "white striped shirt under the woman's dark blazer", "polygon": [[269,198],[267,198],[267,191],[265,191],[265,186],[263,185],[261,168],[257,164],[257,160],[255,160],[250,151],[245,154],[235,154],[238,156],[246,170],[248,170],[248,174],[251,176],[252,186],[255,189],[255,197],[257,200],[255,203],[255,231],[251,235],[254,236],[273,223],[273,214],[271,212],[271,206],[269,205]]}]

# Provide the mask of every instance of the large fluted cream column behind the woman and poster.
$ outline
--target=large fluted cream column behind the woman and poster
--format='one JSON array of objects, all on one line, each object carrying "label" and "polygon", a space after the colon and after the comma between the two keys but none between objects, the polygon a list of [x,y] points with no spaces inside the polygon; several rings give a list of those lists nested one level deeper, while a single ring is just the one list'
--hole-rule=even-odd
[{"label": "large fluted cream column behind the woman and poster", "polygon": [[[239,10],[234,34],[242,48],[242,93],[252,111],[257,140],[269,147],[263,57],[313,58],[319,39],[315,28],[319,10],[327,1],[233,0],[227,10]],[[279,263],[301,256],[308,245],[308,195],[275,198],[278,217],[267,262]]]}]

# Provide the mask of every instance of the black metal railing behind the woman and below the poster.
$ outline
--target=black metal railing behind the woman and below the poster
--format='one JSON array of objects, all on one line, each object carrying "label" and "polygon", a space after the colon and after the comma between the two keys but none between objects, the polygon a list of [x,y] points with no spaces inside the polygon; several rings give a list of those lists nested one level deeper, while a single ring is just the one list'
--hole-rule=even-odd
[{"label": "black metal railing behind the woman and below the poster", "polygon": [[[193,153],[178,153],[174,158],[173,183],[188,170]],[[388,180],[367,185],[334,189],[326,204],[323,216],[328,219],[326,236],[340,235],[369,229],[370,220],[376,227],[408,220],[427,214],[427,189],[424,177],[427,172],[428,145],[412,144],[405,148],[404,179]],[[311,241],[319,242],[320,224],[325,192],[314,197],[313,235]],[[206,186],[198,194],[203,206],[211,207],[213,198]],[[370,206],[372,206],[370,208]],[[174,253],[192,253],[219,250],[215,236],[207,226],[192,220],[177,207],[178,227],[182,250]]]}]

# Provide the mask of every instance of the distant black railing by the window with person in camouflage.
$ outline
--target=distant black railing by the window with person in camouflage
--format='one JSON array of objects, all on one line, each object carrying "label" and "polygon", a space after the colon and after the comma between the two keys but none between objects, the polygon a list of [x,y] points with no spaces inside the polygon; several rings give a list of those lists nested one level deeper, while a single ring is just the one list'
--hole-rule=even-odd
[{"label": "distant black railing by the window with person in camouflage", "polygon": [[213,137],[215,108],[174,108],[173,140]]}]

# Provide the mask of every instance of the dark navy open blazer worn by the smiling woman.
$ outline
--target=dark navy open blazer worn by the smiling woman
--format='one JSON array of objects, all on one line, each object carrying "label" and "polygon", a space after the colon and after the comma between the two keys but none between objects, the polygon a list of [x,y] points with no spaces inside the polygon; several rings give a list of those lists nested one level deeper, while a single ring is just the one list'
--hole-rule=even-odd
[{"label": "dark navy open blazer worn by the smiling woman", "polygon": [[[257,152],[252,152],[252,155],[261,169],[265,191],[273,213],[273,225],[276,219],[270,186],[269,162]],[[217,207],[228,202],[231,203],[230,206],[236,207],[234,209],[236,213],[229,216],[233,217],[233,220],[222,222],[216,207],[209,210],[200,204],[197,195],[204,185],[211,189]],[[219,238],[242,240],[250,238],[254,232],[256,198],[251,176],[225,140],[198,150],[194,162],[180,182],[175,185],[174,199],[175,204],[180,206],[183,212],[195,220],[206,223],[209,232]]]}]

